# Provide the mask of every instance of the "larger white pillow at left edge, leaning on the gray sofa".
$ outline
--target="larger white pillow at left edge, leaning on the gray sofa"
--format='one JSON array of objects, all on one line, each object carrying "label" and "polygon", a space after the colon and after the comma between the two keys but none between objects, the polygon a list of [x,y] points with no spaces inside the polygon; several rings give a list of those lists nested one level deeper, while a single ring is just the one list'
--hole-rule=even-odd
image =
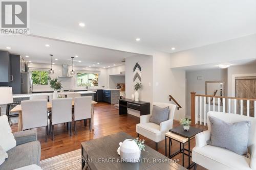
[{"label": "larger white pillow at left edge, leaning on the gray sofa", "polygon": [[16,146],[16,140],[14,139],[12,129],[8,122],[8,117],[6,115],[0,116],[0,139],[0,145],[3,147],[5,152]]}]

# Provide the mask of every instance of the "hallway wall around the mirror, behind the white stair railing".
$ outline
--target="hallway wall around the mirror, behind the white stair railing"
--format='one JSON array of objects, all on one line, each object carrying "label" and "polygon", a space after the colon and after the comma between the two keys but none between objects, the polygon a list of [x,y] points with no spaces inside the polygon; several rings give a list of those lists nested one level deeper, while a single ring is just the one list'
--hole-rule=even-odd
[{"label": "hallway wall around the mirror, behind the white stair railing", "polygon": [[[202,80],[197,80],[201,76]],[[225,81],[225,94],[227,94],[227,69],[206,69],[196,71],[186,71],[186,115],[190,117],[191,98],[190,92],[205,94],[205,81]],[[207,107],[208,108],[208,105]],[[222,108],[221,108],[222,110]]]}]

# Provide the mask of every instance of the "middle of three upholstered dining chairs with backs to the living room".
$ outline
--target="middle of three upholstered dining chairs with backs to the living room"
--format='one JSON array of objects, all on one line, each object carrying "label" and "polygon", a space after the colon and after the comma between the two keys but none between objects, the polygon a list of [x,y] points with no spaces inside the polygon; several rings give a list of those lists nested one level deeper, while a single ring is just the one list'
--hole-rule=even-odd
[{"label": "middle of three upholstered dining chairs with backs to the living room", "polygon": [[54,125],[67,123],[72,135],[72,98],[58,98],[52,100],[52,113],[50,118],[50,134],[54,140]]}]

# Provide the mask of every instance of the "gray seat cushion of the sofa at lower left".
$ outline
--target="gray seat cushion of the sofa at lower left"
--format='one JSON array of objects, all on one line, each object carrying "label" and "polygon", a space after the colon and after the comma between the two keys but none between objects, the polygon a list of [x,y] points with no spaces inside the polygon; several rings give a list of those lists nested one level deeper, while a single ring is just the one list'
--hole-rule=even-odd
[{"label": "gray seat cushion of the sofa at lower left", "polygon": [[16,169],[31,164],[40,165],[40,142],[37,140],[17,145],[10,149],[7,154],[8,158],[0,165],[1,170]]}]

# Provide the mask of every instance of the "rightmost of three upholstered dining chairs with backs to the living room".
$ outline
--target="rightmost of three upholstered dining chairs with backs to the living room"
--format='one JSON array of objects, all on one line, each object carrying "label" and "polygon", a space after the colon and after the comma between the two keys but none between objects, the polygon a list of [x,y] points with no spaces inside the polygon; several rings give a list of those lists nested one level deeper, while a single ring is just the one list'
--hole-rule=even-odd
[{"label": "rightmost of three upholstered dining chairs with backs to the living room", "polygon": [[92,96],[82,96],[76,97],[74,103],[74,114],[72,118],[74,119],[74,130],[76,135],[76,121],[84,120],[84,126],[86,126],[86,121],[89,119],[89,129],[92,131],[91,125],[91,111],[92,111]]}]

